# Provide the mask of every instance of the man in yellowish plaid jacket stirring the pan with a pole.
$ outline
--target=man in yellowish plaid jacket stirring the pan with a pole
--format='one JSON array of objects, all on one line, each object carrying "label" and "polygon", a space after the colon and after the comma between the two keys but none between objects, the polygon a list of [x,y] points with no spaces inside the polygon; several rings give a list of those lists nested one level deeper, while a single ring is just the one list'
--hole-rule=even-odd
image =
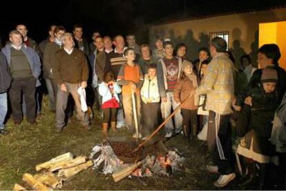
[{"label": "man in yellowish plaid jacket stirring the pan with a pole", "polygon": [[225,39],[215,37],[211,40],[211,56],[213,59],[207,67],[202,83],[195,94],[207,94],[206,108],[209,110],[207,132],[208,149],[216,165],[207,165],[207,170],[220,173],[214,183],[216,187],[224,187],[236,178],[231,161],[231,101],[233,100],[233,63],[225,52]]}]

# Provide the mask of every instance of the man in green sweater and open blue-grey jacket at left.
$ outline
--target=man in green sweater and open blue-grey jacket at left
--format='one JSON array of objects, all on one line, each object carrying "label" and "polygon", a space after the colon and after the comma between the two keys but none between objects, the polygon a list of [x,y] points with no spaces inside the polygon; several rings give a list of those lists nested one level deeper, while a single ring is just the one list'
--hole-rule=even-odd
[{"label": "man in green sweater and open blue-grey jacket at left", "polygon": [[41,73],[39,55],[35,50],[23,44],[22,34],[17,30],[12,30],[9,37],[11,43],[8,43],[2,52],[6,56],[12,75],[9,91],[12,118],[15,124],[20,124],[23,120],[21,110],[21,93],[23,92],[26,101],[26,119],[35,125],[37,124],[35,90]]}]

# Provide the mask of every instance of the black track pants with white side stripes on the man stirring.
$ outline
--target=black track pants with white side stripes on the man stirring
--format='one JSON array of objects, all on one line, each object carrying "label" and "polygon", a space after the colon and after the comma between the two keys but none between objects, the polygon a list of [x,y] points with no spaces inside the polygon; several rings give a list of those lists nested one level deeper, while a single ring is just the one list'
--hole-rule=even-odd
[{"label": "black track pants with white side stripes on the man stirring", "polygon": [[218,165],[220,174],[234,172],[229,117],[229,114],[222,115],[209,111],[207,145],[213,162]]}]

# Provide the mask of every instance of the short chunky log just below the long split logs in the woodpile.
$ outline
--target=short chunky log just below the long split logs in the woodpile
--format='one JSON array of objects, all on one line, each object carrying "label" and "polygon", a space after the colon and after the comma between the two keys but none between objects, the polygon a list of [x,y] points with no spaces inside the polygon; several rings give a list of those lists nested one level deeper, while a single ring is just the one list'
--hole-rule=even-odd
[{"label": "short chunky log just below the long split logs in the woodpile", "polygon": [[34,178],[52,188],[61,188],[61,186],[63,185],[63,179],[57,177],[52,172],[45,172],[43,174],[35,174]]}]

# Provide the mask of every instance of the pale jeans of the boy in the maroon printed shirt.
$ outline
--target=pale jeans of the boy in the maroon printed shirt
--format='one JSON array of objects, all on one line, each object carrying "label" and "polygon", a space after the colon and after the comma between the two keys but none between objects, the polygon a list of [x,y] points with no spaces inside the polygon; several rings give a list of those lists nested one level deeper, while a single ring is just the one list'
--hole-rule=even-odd
[{"label": "pale jeans of the boy in the maroon printed shirt", "polygon": [[[161,111],[162,111],[162,117],[165,120],[169,115],[171,114],[171,109],[175,110],[175,108],[178,107],[178,103],[175,103],[174,94],[173,92],[167,92],[166,93],[167,101],[161,103]],[[178,132],[182,128],[182,114],[181,110],[179,110],[175,114],[175,132]],[[173,121],[170,119],[165,124],[165,131],[166,132],[173,132],[174,125]]]}]

